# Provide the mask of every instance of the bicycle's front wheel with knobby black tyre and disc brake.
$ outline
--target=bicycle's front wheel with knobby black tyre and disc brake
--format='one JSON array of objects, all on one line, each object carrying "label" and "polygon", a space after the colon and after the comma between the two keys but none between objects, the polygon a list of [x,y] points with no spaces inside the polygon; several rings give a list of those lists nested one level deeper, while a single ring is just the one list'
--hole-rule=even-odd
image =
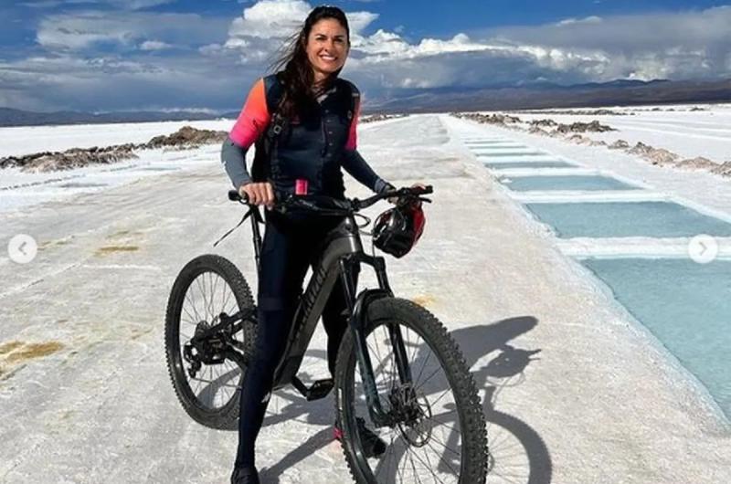
[{"label": "bicycle's front wheel with knobby black tyre and disc brake", "polygon": [[[410,384],[398,376],[389,337],[393,326],[402,334]],[[393,426],[373,426],[348,331],[335,369],[335,410],[355,481],[482,484],[488,467],[482,405],[467,363],[440,321],[408,300],[376,300],[367,310],[365,341],[381,405],[402,417]],[[387,444],[380,458],[366,457],[358,435],[361,418]]]}]

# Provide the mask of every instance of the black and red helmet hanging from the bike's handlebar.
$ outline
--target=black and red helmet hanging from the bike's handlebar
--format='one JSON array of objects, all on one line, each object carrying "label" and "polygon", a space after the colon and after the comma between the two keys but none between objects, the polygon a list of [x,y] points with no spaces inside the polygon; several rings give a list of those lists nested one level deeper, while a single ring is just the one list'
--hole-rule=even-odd
[{"label": "black and red helmet hanging from the bike's handlebar", "polygon": [[390,208],[376,218],[373,244],[387,254],[402,258],[416,245],[426,221],[418,200]]}]

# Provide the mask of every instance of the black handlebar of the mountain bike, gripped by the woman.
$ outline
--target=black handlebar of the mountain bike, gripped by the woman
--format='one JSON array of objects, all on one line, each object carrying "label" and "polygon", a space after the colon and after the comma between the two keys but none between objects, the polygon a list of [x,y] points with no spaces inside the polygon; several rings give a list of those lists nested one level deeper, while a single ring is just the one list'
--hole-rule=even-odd
[{"label": "black handlebar of the mountain bike, gripped by the woman", "polygon": [[[339,199],[327,195],[291,195],[277,192],[275,193],[277,202],[275,202],[272,209],[283,213],[291,208],[301,208],[321,215],[347,216],[374,205],[376,202],[385,198],[398,198],[402,200],[410,199],[429,202],[429,199],[422,198],[421,195],[429,195],[431,193],[434,193],[434,189],[431,185],[425,186],[424,188],[412,186],[399,188],[397,190],[388,190],[387,192],[370,196],[364,200],[358,200],[357,198]],[[228,191],[228,199],[232,202],[255,206],[249,204],[248,197],[241,196],[236,190]]]}]

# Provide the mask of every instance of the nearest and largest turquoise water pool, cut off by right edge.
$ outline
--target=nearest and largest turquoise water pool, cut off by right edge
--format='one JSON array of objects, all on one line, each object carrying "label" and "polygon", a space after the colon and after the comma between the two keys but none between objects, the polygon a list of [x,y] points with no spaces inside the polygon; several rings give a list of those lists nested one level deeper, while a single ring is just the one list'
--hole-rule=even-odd
[{"label": "nearest and largest turquoise water pool, cut off by right edge", "polygon": [[587,259],[638,321],[700,380],[731,418],[731,261]]}]

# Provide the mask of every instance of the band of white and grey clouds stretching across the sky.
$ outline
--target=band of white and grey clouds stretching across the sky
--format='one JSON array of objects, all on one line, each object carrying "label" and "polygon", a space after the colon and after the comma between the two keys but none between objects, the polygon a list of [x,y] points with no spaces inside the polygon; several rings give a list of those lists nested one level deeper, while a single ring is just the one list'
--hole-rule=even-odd
[{"label": "band of white and grey clouds stretching across the sky", "polygon": [[[302,0],[263,0],[242,7],[233,21],[139,11],[47,16],[37,30],[44,55],[0,62],[0,102],[46,110],[115,109],[117,102],[164,107],[185,99],[191,106],[236,109],[310,10]],[[568,18],[415,41],[386,29],[373,32],[375,13],[347,16],[353,50],[344,76],[366,98],[392,89],[537,80],[731,77],[731,7]],[[111,52],[104,55],[100,45],[116,48],[102,49]],[[143,52],[170,47],[175,56],[157,56],[154,63]],[[112,91],[120,94],[114,100]],[[69,106],[71,100],[83,105]]]}]

